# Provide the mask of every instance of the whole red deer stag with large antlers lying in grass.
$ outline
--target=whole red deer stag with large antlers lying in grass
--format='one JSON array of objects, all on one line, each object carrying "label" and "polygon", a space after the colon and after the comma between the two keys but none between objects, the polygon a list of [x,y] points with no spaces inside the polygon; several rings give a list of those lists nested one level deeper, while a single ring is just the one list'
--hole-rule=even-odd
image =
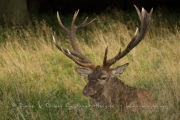
[{"label": "whole red deer stag with large antlers lying in grass", "polygon": [[107,47],[105,49],[102,66],[96,66],[87,57],[85,57],[80,52],[75,39],[76,31],[80,28],[86,27],[95,19],[91,20],[90,22],[87,22],[87,17],[84,20],[84,22],[82,22],[82,24],[76,26],[75,20],[79,13],[78,10],[74,13],[70,29],[67,29],[62,24],[61,19],[59,17],[59,13],[57,12],[58,23],[67,33],[73,51],[69,51],[68,49],[64,49],[61,46],[59,46],[55,41],[54,37],[53,41],[60,51],[62,51],[68,58],[70,58],[76,64],[82,67],[76,68],[76,71],[80,75],[85,76],[88,79],[88,83],[84,87],[82,92],[85,96],[93,98],[95,103],[101,106],[114,105],[119,106],[120,110],[123,111],[139,111],[142,108],[144,108],[144,106],[153,105],[153,98],[147,90],[125,85],[121,80],[119,80],[116,77],[117,75],[122,74],[124,72],[124,70],[128,66],[128,63],[118,66],[116,68],[110,68],[111,65],[123,58],[134,47],[136,47],[142,41],[145,34],[147,33],[153,9],[151,9],[150,13],[147,13],[147,11],[144,8],[142,8],[141,12],[136,6],[135,9],[141,21],[140,29],[136,29],[135,35],[128,43],[127,47],[123,51],[120,50],[118,54],[111,59],[107,59]]}]

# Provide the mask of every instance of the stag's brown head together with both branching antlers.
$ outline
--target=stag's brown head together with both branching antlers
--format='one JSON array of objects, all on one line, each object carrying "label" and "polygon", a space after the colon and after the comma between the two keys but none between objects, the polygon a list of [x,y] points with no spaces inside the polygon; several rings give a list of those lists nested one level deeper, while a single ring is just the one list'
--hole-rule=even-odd
[{"label": "stag's brown head together with both branching antlers", "polygon": [[75,25],[75,20],[77,18],[77,15],[79,13],[79,10],[74,13],[74,17],[71,23],[70,29],[67,29],[61,22],[61,19],[59,17],[59,13],[57,12],[57,19],[59,25],[65,30],[67,33],[70,44],[73,48],[73,51],[69,51],[68,49],[64,49],[61,46],[59,46],[53,37],[54,43],[56,47],[62,51],[68,58],[73,60],[76,64],[81,66],[82,68],[76,68],[76,71],[82,75],[85,76],[88,79],[87,85],[83,89],[83,94],[90,97],[96,97],[96,95],[99,95],[104,90],[104,86],[109,84],[111,82],[112,78],[116,77],[119,74],[122,74],[124,70],[127,68],[128,63],[125,63],[124,65],[118,66],[116,68],[110,68],[111,65],[115,64],[118,60],[126,56],[134,47],[136,47],[144,38],[144,36],[147,33],[147,30],[149,28],[150,20],[151,20],[151,14],[153,9],[151,9],[150,13],[147,13],[144,8],[142,8],[141,12],[139,9],[135,6],[135,9],[138,13],[141,25],[140,29],[136,29],[135,34],[131,41],[128,43],[127,47],[121,52],[121,49],[111,59],[107,59],[108,54],[108,47],[105,49],[104,53],[104,60],[103,65],[95,65],[93,64],[88,58],[86,58],[79,50],[78,46],[76,45],[76,39],[75,34],[76,31],[80,28],[84,28],[90,23],[92,23],[95,19],[91,20],[90,22],[87,22],[88,17],[82,22],[80,25]]}]

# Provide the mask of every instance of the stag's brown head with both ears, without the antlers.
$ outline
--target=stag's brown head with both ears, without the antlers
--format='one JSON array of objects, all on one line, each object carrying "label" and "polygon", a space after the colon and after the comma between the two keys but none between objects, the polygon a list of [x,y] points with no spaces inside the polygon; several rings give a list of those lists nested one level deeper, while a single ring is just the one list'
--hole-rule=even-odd
[{"label": "stag's brown head with both ears, without the antlers", "polygon": [[119,74],[122,74],[127,66],[128,63],[113,69],[105,69],[104,67],[100,66],[96,66],[92,70],[85,68],[76,68],[76,71],[78,73],[88,79],[88,83],[83,89],[83,94],[85,96],[91,96],[93,98],[101,95],[101,93],[104,91],[105,86],[111,84],[112,78]]}]

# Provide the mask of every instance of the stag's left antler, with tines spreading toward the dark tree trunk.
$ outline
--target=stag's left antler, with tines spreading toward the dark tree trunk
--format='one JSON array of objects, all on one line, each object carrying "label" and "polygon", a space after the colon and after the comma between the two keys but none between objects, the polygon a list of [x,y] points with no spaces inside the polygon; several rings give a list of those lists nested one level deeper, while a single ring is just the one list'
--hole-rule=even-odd
[{"label": "stag's left antler, with tines spreading toward the dark tree trunk", "polygon": [[87,67],[87,68],[94,68],[95,65],[90,61],[88,60],[79,50],[77,44],[76,44],[76,39],[75,39],[75,35],[76,35],[76,31],[80,28],[84,28],[86,27],[87,25],[89,25],[90,23],[92,23],[95,19],[91,20],[90,22],[87,23],[87,20],[88,20],[88,17],[84,20],[84,22],[82,22],[80,25],[76,26],[75,25],[75,21],[76,21],[76,18],[77,18],[77,15],[79,13],[79,10],[77,10],[75,13],[74,13],[74,16],[73,16],[73,20],[72,20],[72,23],[71,23],[71,27],[70,27],[70,30],[67,29],[61,22],[61,19],[59,17],[59,13],[57,12],[57,19],[58,19],[58,23],[59,25],[65,30],[65,32],[67,33],[68,37],[69,37],[69,40],[70,40],[70,44],[73,48],[74,51],[69,51],[68,49],[64,49],[62,48],[61,46],[58,45],[58,43],[56,42],[54,36],[53,36],[53,41],[56,45],[56,47],[62,51],[68,58],[70,58],[71,60],[73,60],[76,64],[82,66],[82,67]]}]

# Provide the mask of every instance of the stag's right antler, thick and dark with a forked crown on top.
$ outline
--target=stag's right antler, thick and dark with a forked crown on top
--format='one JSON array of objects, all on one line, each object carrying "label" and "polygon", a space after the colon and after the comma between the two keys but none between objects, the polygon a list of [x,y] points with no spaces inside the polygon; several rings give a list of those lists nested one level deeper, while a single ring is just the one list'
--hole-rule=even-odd
[{"label": "stag's right antler, thick and dark with a forked crown on top", "polygon": [[107,60],[108,47],[106,48],[105,53],[104,53],[104,61],[103,61],[104,68],[109,68],[111,65],[113,65],[118,60],[120,60],[125,55],[127,55],[134,47],[136,47],[142,41],[142,39],[144,38],[144,36],[147,33],[153,9],[151,9],[150,13],[147,13],[147,11],[144,8],[142,8],[142,10],[140,12],[139,9],[135,5],[134,5],[134,7],[135,7],[135,9],[138,13],[139,19],[141,21],[140,31],[138,28],[136,28],[134,37],[131,39],[131,41],[129,42],[127,47],[122,52],[120,49],[119,53],[112,59]]}]

